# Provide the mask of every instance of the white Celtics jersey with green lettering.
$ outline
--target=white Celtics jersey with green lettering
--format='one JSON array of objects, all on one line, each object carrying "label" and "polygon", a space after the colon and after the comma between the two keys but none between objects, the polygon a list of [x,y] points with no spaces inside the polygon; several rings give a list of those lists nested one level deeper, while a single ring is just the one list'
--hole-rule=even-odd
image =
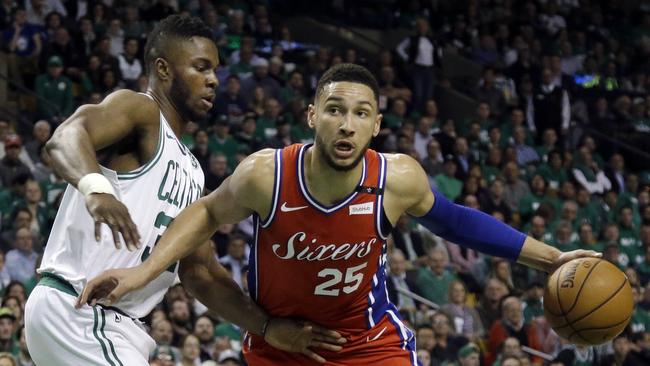
[{"label": "white Celtics jersey with green lettering", "polygon": [[[56,274],[81,293],[86,282],[105,270],[134,267],[145,260],[171,221],[201,196],[204,176],[192,153],[174,135],[160,114],[158,147],[153,158],[128,173],[102,167],[117,198],[126,205],[141,237],[140,249],[116,249],[113,234],[102,225],[95,241],[94,221],[84,196],[68,185],[54,221],[38,272]],[[122,238],[121,238],[122,239]],[[122,243],[124,241],[122,240]],[[147,315],[174,283],[178,263],[170,266],[144,288],[112,304],[134,318]]]}]

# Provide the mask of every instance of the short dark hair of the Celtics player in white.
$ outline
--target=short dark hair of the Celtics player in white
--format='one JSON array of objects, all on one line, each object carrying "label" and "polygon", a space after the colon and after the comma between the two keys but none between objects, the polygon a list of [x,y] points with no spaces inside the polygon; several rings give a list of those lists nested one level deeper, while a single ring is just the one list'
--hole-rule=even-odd
[{"label": "short dark hair of the Celtics player in white", "polygon": [[144,47],[147,73],[151,71],[157,58],[167,56],[167,52],[169,52],[167,46],[172,44],[171,41],[191,37],[212,39],[212,30],[203,23],[201,18],[179,14],[170,15],[156,24],[149,37],[147,37],[147,43]]}]

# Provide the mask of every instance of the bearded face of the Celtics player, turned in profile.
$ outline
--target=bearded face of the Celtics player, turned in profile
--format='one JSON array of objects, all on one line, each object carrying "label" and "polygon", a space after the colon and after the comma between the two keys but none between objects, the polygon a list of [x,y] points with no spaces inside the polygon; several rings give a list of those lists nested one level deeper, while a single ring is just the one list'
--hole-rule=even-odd
[{"label": "bearded face of the Celtics player, turned in profile", "polygon": [[179,42],[170,61],[169,94],[181,117],[190,121],[205,118],[219,85],[215,74],[219,56],[214,42],[203,37]]}]

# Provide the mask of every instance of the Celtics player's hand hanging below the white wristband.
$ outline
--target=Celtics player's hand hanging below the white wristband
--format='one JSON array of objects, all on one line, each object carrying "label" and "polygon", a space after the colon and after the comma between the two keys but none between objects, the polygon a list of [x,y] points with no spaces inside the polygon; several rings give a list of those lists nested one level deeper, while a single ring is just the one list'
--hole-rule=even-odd
[{"label": "Celtics player's hand hanging below the white wristband", "polygon": [[101,238],[101,225],[106,224],[113,233],[115,248],[120,249],[120,233],[128,250],[140,247],[140,234],[131,219],[129,210],[112,194],[93,193],[86,197],[86,208],[95,221],[95,240]]}]

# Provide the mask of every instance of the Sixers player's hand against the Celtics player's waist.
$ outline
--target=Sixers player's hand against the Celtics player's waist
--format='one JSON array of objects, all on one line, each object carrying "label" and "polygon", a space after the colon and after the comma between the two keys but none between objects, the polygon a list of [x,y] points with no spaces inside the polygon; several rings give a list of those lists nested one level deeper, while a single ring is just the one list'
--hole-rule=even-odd
[{"label": "Sixers player's hand against the Celtics player's waist", "polygon": [[110,306],[125,294],[143,287],[146,283],[141,281],[142,277],[137,267],[102,272],[86,284],[75,307],[79,309],[84,304],[95,306],[97,302]]}]

